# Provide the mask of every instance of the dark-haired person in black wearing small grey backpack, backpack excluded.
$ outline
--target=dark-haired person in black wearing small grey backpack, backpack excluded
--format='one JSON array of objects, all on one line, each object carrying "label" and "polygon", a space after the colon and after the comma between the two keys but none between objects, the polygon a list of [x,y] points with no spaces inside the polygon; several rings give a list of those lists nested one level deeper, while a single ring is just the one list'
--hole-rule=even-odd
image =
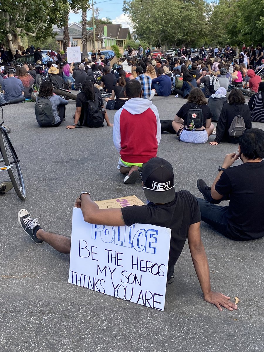
[{"label": "dark-haired person in black wearing small grey backpack, backpack excluded", "polygon": [[231,90],[228,98],[228,103],[222,107],[222,111],[216,125],[215,139],[210,142],[210,145],[218,145],[220,142],[238,143],[239,137],[231,137],[228,134],[228,129],[231,126],[233,119],[241,115],[245,121],[245,128],[252,128],[250,108],[245,104],[245,98],[241,90]]}]

